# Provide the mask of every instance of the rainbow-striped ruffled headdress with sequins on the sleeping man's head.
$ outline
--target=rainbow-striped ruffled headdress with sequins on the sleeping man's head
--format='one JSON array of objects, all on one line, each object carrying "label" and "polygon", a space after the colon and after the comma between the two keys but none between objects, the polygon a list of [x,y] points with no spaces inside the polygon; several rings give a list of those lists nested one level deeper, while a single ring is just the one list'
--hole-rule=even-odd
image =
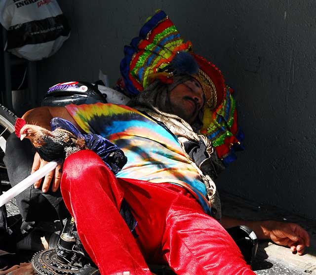
[{"label": "rainbow-striped ruffled headdress with sequins on the sleeping man's head", "polygon": [[191,42],[182,39],[163,11],[147,19],[139,36],[124,47],[124,55],[120,71],[130,97],[142,92],[154,79],[172,83],[172,77],[181,73],[196,78],[206,99],[200,132],[212,140],[224,164],[235,160],[234,151],[243,149],[243,136],[237,127],[233,90],[226,86],[215,65],[193,52]]}]

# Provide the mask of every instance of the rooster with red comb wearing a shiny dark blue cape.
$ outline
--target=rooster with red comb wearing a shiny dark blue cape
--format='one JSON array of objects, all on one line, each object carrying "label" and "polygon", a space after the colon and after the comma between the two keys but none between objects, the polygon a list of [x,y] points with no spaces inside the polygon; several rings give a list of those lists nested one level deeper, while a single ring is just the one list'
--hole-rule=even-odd
[{"label": "rooster with red comb wearing a shiny dark blue cape", "polygon": [[17,118],[15,134],[21,140],[29,139],[45,161],[63,161],[73,153],[90,149],[114,173],[125,165],[127,158],[123,151],[106,138],[96,134],[81,134],[74,124],[63,118],[51,119],[50,125],[51,131],[38,125],[26,124],[23,118]]}]

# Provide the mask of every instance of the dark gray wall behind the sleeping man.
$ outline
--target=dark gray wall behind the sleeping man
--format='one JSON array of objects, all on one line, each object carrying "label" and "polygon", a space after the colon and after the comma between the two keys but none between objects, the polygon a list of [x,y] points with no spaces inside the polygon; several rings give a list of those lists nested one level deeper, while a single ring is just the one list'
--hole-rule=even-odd
[{"label": "dark gray wall behind the sleeping man", "polygon": [[246,150],[218,186],[316,218],[314,0],[67,0],[71,38],[38,63],[39,89],[63,80],[113,84],[123,45],[155,9],[235,88]]}]

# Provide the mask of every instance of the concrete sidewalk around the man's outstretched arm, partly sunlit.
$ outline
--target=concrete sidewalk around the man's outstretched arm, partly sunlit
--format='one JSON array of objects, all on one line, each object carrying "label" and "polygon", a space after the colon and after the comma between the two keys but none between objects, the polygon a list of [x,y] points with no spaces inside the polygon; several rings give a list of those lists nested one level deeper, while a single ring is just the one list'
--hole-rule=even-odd
[{"label": "concrete sidewalk around the man's outstretched arm, partly sunlit", "polygon": [[243,220],[277,220],[300,224],[311,236],[311,246],[303,256],[272,242],[259,243],[257,259],[252,268],[258,275],[316,275],[316,222],[292,215],[273,206],[259,205],[221,192],[223,214]]}]

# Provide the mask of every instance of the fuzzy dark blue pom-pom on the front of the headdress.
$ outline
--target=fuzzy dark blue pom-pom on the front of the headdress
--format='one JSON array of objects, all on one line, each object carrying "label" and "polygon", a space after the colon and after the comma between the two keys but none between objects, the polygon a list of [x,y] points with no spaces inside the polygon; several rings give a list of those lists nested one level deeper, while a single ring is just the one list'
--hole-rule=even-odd
[{"label": "fuzzy dark blue pom-pom on the front of the headdress", "polygon": [[170,65],[177,73],[193,75],[198,72],[197,61],[187,51],[178,52],[170,62]]}]

